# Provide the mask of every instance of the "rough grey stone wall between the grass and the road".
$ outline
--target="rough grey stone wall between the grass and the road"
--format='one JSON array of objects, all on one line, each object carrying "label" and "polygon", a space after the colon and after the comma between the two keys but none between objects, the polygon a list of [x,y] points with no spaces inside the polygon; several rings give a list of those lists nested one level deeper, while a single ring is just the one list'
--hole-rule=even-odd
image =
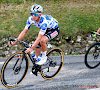
[{"label": "rough grey stone wall between the grass and the road", "polygon": [[[61,48],[65,55],[73,54],[85,54],[86,50],[89,48],[89,46],[96,41],[99,41],[99,39],[93,39],[90,37],[90,35],[87,35],[87,37],[83,38],[82,36],[76,36],[76,39],[69,39],[69,37],[66,37],[66,44],[61,41],[61,38],[57,38],[56,41],[54,41],[57,46],[51,45],[50,43],[48,44],[48,48],[53,48],[53,47],[59,47]],[[0,57],[8,57],[12,53],[21,51],[22,46],[20,45],[15,45],[13,47],[7,47],[7,42],[8,39],[3,38],[0,41]],[[30,42],[30,46],[34,43],[33,41]],[[34,53],[34,50],[33,52]]]}]

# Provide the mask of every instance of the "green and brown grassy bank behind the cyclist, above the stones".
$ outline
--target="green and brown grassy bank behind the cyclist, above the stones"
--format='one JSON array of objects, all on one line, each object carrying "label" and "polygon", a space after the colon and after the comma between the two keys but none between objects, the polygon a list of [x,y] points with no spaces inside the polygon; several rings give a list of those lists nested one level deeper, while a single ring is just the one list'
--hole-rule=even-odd
[{"label": "green and brown grassy bank behind the cyclist, above the stones", "polygon": [[[6,2],[7,1],[7,2]],[[17,3],[15,2],[17,1]],[[96,31],[100,25],[100,2],[98,0],[1,0],[0,40],[3,37],[17,37],[24,29],[33,4],[41,4],[43,14],[51,14],[59,21],[63,42],[67,36],[73,38]],[[8,3],[8,4],[6,4]],[[39,29],[31,26],[26,40],[34,40]]]}]

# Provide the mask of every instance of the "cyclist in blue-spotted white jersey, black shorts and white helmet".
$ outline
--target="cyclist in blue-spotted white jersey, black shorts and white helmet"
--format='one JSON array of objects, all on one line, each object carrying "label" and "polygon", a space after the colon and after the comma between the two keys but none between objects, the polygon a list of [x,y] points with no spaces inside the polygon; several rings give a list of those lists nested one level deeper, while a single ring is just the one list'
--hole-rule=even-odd
[{"label": "cyclist in blue-spotted white jersey, black shorts and white helmet", "polygon": [[[47,56],[47,42],[55,38],[59,34],[59,27],[58,22],[54,19],[51,15],[43,15],[43,8],[41,5],[35,4],[31,7],[31,16],[28,18],[26,22],[26,26],[24,30],[19,34],[18,40],[22,40],[27,31],[29,30],[31,25],[34,25],[40,28],[38,33],[38,37],[33,43],[33,45],[28,48],[25,53],[31,53],[32,50],[35,48],[36,54],[36,64],[42,65],[46,62]],[[11,45],[16,45],[17,40]],[[41,55],[42,52],[42,55]]]}]

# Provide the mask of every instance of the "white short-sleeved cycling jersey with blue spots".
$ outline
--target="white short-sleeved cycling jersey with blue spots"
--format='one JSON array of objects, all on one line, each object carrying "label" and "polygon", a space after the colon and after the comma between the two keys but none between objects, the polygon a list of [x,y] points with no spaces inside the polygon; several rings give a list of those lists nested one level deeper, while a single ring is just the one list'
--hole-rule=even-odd
[{"label": "white short-sleeved cycling jersey with blue spots", "polygon": [[26,22],[25,29],[29,29],[31,25],[40,28],[39,33],[44,35],[47,28],[49,28],[49,30],[57,28],[58,22],[51,15],[41,15],[39,22],[33,21],[32,16],[30,16]]}]

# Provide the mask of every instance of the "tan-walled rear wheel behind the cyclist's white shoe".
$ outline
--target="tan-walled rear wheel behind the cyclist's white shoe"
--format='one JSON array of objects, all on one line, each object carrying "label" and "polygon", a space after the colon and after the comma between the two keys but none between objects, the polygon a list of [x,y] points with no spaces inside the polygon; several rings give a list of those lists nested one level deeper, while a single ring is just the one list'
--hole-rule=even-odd
[{"label": "tan-walled rear wheel behind the cyclist's white shoe", "polygon": [[41,75],[44,79],[52,79],[63,66],[64,53],[60,48],[53,48],[47,52],[47,57],[47,63],[41,66]]}]

